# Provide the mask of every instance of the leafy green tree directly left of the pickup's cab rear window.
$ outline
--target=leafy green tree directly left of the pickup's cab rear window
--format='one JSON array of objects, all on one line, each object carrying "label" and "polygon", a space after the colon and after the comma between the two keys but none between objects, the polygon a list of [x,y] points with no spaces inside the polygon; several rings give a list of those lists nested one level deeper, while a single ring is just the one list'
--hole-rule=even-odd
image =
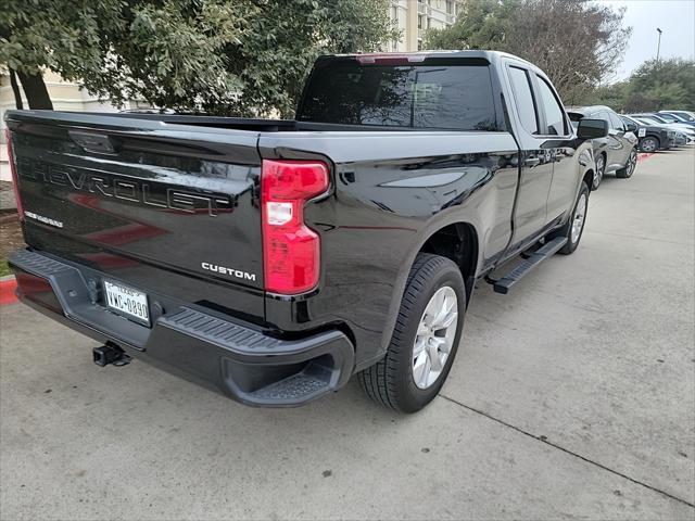
[{"label": "leafy green tree directly left of the pickup's cab rear window", "polygon": [[319,54],[378,50],[397,37],[388,0],[258,0],[242,41],[227,46],[243,88],[231,107],[242,115],[293,114],[304,80]]}]

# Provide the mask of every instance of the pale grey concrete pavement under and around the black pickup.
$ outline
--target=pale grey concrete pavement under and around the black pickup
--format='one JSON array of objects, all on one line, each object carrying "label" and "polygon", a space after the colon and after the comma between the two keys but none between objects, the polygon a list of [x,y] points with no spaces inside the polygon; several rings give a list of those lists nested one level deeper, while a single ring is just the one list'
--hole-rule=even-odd
[{"label": "pale grey concrete pavement under and around the black pickup", "polygon": [[440,397],[251,409],[0,308],[0,517],[694,519],[695,153],[591,196],[580,249],[481,284]]}]

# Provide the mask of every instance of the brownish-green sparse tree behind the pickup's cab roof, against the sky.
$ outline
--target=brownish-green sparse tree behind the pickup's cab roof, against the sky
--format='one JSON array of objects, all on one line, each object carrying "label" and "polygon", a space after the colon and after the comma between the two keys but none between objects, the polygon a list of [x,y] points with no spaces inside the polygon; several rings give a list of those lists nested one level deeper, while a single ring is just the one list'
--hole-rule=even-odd
[{"label": "brownish-green sparse tree behind the pickup's cab roof, against the sky", "polygon": [[428,49],[491,49],[541,67],[573,103],[621,61],[630,28],[624,10],[586,0],[468,0],[446,29],[426,34]]}]

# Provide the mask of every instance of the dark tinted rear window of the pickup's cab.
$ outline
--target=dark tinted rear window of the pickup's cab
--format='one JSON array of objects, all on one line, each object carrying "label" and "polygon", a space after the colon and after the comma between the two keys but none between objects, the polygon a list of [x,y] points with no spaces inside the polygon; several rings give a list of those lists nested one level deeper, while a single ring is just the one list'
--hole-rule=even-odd
[{"label": "dark tinted rear window of the pickup's cab", "polygon": [[[420,56],[417,56],[418,59]],[[503,130],[482,59],[369,55],[317,62],[300,122],[416,129]]]}]

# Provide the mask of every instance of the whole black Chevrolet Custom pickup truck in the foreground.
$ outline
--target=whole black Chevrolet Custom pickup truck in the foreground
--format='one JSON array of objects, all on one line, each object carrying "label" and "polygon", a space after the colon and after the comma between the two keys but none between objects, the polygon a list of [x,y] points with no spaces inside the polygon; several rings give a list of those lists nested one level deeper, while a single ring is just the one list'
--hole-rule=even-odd
[{"label": "whole black Chevrolet Custom pickup truck in the foreground", "polygon": [[5,118],[17,294],[103,344],[96,363],[258,406],[358,374],[402,411],[443,384],[477,280],[506,293],[577,247],[607,134],[485,51],[320,58],[295,120]]}]

